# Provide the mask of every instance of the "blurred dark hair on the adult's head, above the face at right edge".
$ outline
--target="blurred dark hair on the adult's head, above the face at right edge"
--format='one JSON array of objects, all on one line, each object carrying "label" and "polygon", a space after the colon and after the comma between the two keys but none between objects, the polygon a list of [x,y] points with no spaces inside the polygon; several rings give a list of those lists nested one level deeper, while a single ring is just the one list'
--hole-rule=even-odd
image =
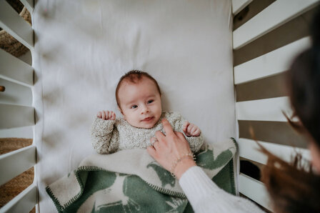
[{"label": "blurred dark hair on the adult's head, above the face at right edge", "polygon": [[320,147],[320,52],[310,48],[299,54],[287,73],[289,98],[301,125],[289,123],[298,132],[307,132]]}]

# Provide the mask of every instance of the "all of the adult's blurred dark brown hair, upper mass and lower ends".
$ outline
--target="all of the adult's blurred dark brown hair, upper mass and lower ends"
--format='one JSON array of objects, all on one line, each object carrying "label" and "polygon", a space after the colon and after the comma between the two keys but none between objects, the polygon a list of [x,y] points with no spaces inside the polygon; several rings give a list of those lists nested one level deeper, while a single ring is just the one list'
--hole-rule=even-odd
[{"label": "all of the adult's blurred dark brown hair, upper mass and lower ends", "polygon": [[[286,85],[300,122],[287,117],[291,127],[320,149],[320,10],[311,26],[312,44],[294,59],[286,73]],[[261,147],[261,145],[259,144]],[[291,163],[261,147],[268,156],[261,180],[266,184],[275,212],[320,212],[320,176],[301,165],[301,154]]]}]

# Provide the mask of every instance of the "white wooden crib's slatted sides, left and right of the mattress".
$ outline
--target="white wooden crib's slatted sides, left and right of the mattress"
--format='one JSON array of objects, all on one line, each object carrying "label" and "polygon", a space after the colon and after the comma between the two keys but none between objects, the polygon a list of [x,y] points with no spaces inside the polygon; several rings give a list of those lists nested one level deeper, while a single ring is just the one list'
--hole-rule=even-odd
[{"label": "white wooden crib's slatted sides, left and right of the mattress", "polygon": [[[36,5],[33,0],[21,0],[21,3],[33,13]],[[266,157],[256,150],[249,127],[264,147],[280,157],[289,161],[296,147],[309,158],[304,139],[289,127],[281,112],[291,113],[286,91],[281,86],[293,56],[310,43],[307,23],[318,5],[319,0],[232,0],[232,12],[238,20],[234,21],[233,49],[240,159],[257,165],[266,163]],[[244,16],[246,11],[249,12]],[[239,16],[244,17],[236,19]],[[4,0],[0,0],[0,27],[30,49],[34,62],[34,26],[26,24]],[[30,147],[0,156],[0,184],[31,167],[38,172],[36,149],[41,141],[33,137],[36,136],[33,126],[38,119],[34,104],[37,100],[32,96],[34,81],[39,79],[34,79],[33,65],[0,49],[0,84],[6,84],[4,92],[14,96],[11,102],[1,100],[0,96],[0,137],[34,139]],[[264,184],[239,174],[238,186],[241,194],[272,211]],[[0,212],[29,212],[35,206],[36,212],[46,212],[40,211],[38,204],[35,178],[33,184]]]}]

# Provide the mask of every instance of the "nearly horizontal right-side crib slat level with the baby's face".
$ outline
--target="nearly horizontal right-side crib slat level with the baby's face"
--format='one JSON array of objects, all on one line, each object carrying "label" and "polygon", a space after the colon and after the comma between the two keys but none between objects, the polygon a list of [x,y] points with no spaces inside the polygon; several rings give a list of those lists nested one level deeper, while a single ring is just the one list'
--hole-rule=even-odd
[{"label": "nearly horizontal right-side crib slat level with the baby's face", "polygon": [[286,112],[289,116],[292,114],[289,98],[286,96],[236,102],[237,119],[239,120],[286,122],[286,117],[281,111]]}]

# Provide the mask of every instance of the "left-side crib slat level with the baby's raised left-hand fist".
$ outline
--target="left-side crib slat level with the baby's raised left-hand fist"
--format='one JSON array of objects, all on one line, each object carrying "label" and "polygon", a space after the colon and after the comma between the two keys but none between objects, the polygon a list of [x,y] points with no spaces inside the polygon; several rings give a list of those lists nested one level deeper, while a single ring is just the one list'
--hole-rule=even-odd
[{"label": "left-side crib slat level with the baby's raised left-hand fist", "polygon": [[32,126],[34,107],[11,104],[0,104],[0,129]]}]

